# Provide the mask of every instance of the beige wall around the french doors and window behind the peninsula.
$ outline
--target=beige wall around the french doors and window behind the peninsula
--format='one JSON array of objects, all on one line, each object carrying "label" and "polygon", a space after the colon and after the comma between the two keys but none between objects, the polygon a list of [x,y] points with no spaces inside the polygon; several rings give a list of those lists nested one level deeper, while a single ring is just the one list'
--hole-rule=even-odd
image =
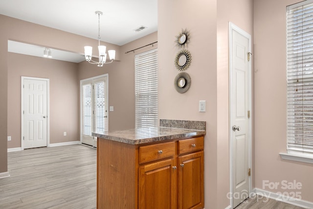
[{"label": "beige wall around the french doors and window behind the peninsula", "polygon": [[109,130],[134,128],[134,55],[157,47],[147,46],[135,52],[125,54],[129,50],[157,41],[157,32],[147,35],[120,47],[120,61],[105,65],[102,68],[87,62],[79,63],[79,80],[106,74],[109,76]]}]

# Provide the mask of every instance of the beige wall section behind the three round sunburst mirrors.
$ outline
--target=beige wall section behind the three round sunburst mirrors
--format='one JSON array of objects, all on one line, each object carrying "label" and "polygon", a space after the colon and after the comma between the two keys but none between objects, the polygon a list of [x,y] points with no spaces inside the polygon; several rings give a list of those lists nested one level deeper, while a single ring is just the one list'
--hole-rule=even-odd
[{"label": "beige wall section behind the three round sunburst mirrors", "polygon": [[[159,118],[206,121],[204,143],[205,208],[217,209],[217,5],[216,0],[158,0],[158,110]],[[179,48],[175,36],[182,28],[190,31],[188,50],[192,61],[188,92],[180,94],[173,81],[179,70],[174,60]],[[206,100],[206,112],[199,112]],[[228,179],[224,179],[228,182]],[[226,195],[226,194],[225,194]]]}]

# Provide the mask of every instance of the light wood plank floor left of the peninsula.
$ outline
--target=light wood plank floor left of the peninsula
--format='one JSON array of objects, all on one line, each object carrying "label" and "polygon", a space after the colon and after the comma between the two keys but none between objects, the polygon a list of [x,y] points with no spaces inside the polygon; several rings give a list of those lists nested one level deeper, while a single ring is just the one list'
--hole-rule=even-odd
[{"label": "light wood plank floor left of the peninsula", "polygon": [[95,209],[96,149],[67,145],[8,153],[0,209]]}]

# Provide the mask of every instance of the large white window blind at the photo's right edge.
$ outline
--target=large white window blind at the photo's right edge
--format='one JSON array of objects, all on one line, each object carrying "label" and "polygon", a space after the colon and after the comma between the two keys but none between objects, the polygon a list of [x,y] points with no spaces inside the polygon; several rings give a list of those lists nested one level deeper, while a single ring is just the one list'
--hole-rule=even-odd
[{"label": "large white window blind at the photo's right edge", "polygon": [[313,154],[313,1],[287,7],[287,149]]}]

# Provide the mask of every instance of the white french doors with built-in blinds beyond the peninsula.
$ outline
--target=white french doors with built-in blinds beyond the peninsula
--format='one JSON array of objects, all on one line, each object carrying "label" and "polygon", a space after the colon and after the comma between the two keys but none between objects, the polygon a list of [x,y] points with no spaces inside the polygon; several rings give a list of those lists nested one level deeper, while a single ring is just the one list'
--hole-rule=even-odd
[{"label": "white french doors with built-in blinds beyond the peninsula", "polygon": [[81,142],[96,147],[92,132],[108,131],[108,74],[81,80]]}]

